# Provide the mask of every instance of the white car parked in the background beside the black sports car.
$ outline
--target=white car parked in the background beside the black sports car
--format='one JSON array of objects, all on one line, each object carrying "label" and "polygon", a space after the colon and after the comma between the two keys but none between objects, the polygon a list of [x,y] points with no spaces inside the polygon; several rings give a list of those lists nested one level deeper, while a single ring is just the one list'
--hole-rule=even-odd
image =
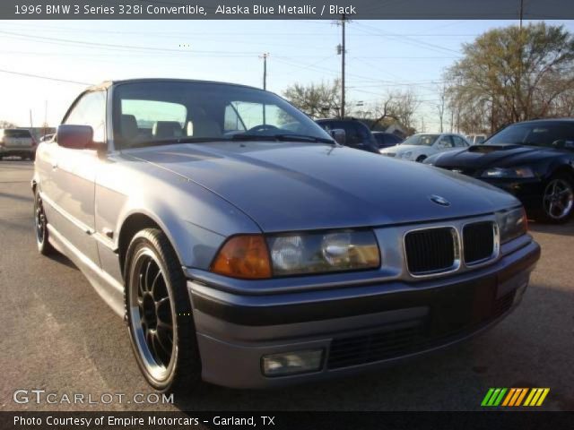
[{"label": "white car parked in the background beside the black sports car", "polygon": [[465,136],[455,133],[418,133],[404,140],[404,142],[380,150],[387,157],[397,159],[410,159],[422,162],[438,152],[467,148],[470,143]]}]

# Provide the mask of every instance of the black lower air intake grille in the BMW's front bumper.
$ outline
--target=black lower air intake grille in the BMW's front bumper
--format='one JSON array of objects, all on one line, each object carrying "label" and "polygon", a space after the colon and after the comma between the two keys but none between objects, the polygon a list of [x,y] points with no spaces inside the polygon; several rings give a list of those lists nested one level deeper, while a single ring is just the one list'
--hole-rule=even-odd
[{"label": "black lower air intake grille in the BMW's front bumper", "polygon": [[[436,348],[451,341],[463,338],[491,323],[512,307],[516,291],[494,299],[480,317],[472,320],[472,312],[466,312],[469,318],[457,324],[433,327],[431,319],[421,319],[408,323],[408,327],[397,327],[387,331],[378,331],[366,335],[338,338],[331,341],[327,368],[337,369],[348,366],[358,366],[389,358],[402,357],[408,354]],[[436,308],[435,313],[440,317],[451,310],[451,306]],[[456,320],[456,318],[455,318]],[[448,327],[448,329],[444,328]]]}]

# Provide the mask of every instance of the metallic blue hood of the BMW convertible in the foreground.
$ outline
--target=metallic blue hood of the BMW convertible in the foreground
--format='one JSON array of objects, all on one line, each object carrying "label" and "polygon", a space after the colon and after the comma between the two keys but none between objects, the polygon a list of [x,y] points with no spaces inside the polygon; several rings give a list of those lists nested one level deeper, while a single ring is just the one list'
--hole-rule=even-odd
[{"label": "metallic blue hood of the BMW convertible in the foreground", "polygon": [[[319,143],[178,144],[129,153],[218,194],[265,232],[448,219],[517,204],[472,178]],[[450,205],[432,202],[432,194]]]}]

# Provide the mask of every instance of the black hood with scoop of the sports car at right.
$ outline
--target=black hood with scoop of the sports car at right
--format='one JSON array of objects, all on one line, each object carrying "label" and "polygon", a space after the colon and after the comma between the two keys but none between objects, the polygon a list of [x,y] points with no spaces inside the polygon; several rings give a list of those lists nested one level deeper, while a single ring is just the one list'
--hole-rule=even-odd
[{"label": "black hood with scoop of the sports car at right", "polygon": [[474,145],[466,150],[448,151],[429,161],[440,168],[507,168],[521,166],[546,157],[558,150],[522,145]]}]

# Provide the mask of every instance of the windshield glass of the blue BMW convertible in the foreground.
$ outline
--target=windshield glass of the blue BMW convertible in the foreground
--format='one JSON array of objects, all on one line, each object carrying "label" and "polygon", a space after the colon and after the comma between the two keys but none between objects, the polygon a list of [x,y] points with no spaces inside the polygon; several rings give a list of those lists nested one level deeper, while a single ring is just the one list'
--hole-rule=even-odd
[{"label": "windshield glass of the blue BMW convertible in the foreground", "polygon": [[119,84],[114,89],[114,113],[114,135],[122,148],[242,138],[334,142],[273,93],[223,83]]}]

